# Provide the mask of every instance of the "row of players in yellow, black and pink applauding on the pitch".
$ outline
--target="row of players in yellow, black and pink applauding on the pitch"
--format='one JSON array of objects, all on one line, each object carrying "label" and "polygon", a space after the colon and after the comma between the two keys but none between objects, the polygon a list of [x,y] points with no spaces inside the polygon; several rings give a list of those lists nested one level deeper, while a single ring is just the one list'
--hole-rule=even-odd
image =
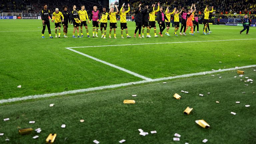
[{"label": "row of players in yellow, black and pink applauding on the pitch", "polygon": [[[49,17],[52,19],[51,21],[55,23],[55,37],[57,37],[57,28],[58,28],[58,37],[60,38],[61,34],[61,25],[63,25],[63,33],[64,37],[67,37],[67,30],[68,30],[68,23],[70,24],[71,21],[73,22],[73,38],[80,38],[79,34],[79,27],[80,27],[80,33],[81,37],[84,37],[83,35],[83,26],[86,29],[87,37],[90,37],[89,35],[89,30],[87,23],[90,24],[92,20],[92,25],[93,25],[93,36],[92,37],[98,37],[98,31],[100,27],[101,31],[101,38],[106,38],[107,34],[107,20],[109,16],[109,38],[111,38],[111,33],[112,29],[114,31],[114,38],[116,39],[116,28],[117,28],[117,20],[116,20],[116,15],[120,15],[120,27],[121,27],[121,38],[124,38],[123,32],[125,29],[126,37],[131,38],[128,33],[128,28],[127,28],[127,21],[126,21],[126,14],[130,11],[130,5],[128,4],[128,10],[125,11],[125,4],[122,5],[120,11],[118,10],[117,5],[115,5],[116,11],[114,11],[114,8],[111,7],[109,12],[106,12],[106,8],[103,8],[103,12],[100,13],[99,10],[97,10],[97,7],[93,7],[93,11],[91,13],[91,17],[89,19],[87,11],[85,10],[85,6],[81,5],[81,10],[77,11],[76,6],[73,5],[73,11],[69,13],[67,11],[68,7],[64,6],[63,7],[63,12],[60,12],[58,8],[55,9],[55,12],[52,14],[50,13],[50,10],[47,9],[47,5],[44,4],[44,9],[41,11],[41,18],[42,18],[42,23],[43,23],[43,30],[42,30],[42,38],[44,37],[44,31],[47,26],[49,36],[50,38],[53,38],[51,36],[51,30],[50,30],[50,20]],[[194,9],[193,9],[194,8]],[[189,34],[194,36],[195,32],[195,27],[197,26],[197,33],[199,32],[199,27],[198,27],[198,16],[196,12],[196,7],[195,4],[191,5],[191,8],[186,12],[186,9],[182,8],[180,11],[178,11],[176,8],[172,12],[170,12],[169,7],[167,7],[166,11],[163,11],[163,7],[160,7],[160,3],[157,3],[157,8],[156,4],[152,4],[152,6],[145,6],[144,9],[142,9],[141,4],[139,5],[138,8],[135,10],[135,23],[136,23],[136,29],[134,32],[134,37],[136,37],[136,33],[138,32],[138,38],[144,38],[144,31],[146,28],[146,37],[150,38],[150,30],[151,28],[154,28],[154,37],[158,37],[157,32],[156,32],[156,21],[155,21],[155,13],[157,13],[157,23],[160,28],[160,36],[163,37],[163,31],[166,28],[165,34],[167,36],[169,35],[169,28],[170,28],[170,22],[171,22],[171,15],[174,16],[174,35],[177,35],[177,31],[180,27],[180,20],[179,20],[179,14],[181,14],[181,29],[180,29],[180,35],[186,35],[187,29],[190,27]],[[209,28],[209,13],[213,12],[213,7],[212,10],[208,10],[208,6],[206,6],[204,10],[204,32],[203,34],[210,34],[210,28]],[[100,24],[100,26],[99,26]],[[207,32],[207,27],[209,32]],[[103,31],[104,28],[104,31]],[[183,30],[183,33],[182,33]],[[77,31],[77,37],[75,36],[75,31]]]}]

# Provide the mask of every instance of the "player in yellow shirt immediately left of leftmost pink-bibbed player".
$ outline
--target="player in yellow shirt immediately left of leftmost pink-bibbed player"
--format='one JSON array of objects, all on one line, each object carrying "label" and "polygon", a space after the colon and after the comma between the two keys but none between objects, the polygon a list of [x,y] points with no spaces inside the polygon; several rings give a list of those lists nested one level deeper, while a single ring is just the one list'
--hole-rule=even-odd
[{"label": "player in yellow shirt immediately left of leftmost pink-bibbed player", "polygon": [[89,17],[88,17],[87,11],[84,10],[84,5],[81,5],[81,10],[78,11],[78,15],[79,15],[80,21],[81,21],[81,24],[80,24],[81,37],[84,37],[83,36],[83,25],[84,25],[84,27],[86,29],[87,37],[90,37],[89,36],[89,30],[88,30],[87,22],[86,22],[86,19],[89,22]]}]

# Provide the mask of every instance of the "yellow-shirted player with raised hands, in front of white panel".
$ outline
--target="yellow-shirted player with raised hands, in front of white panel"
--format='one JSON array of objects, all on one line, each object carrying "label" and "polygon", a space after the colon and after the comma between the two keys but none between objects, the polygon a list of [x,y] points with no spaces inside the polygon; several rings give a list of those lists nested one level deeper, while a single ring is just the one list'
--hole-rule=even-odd
[{"label": "yellow-shirted player with raised hands, in front of white panel", "polygon": [[117,28],[117,24],[116,24],[116,15],[119,14],[117,5],[115,5],[116,8],[116,12],[114,12],[114,8],[110,8],[109,10],[109,25],[110,25],[110,30],[109,30],[109,38],[111,38],[111,32],[112,29],[114,28],[114,38],[116,38],[116,28]]}]

